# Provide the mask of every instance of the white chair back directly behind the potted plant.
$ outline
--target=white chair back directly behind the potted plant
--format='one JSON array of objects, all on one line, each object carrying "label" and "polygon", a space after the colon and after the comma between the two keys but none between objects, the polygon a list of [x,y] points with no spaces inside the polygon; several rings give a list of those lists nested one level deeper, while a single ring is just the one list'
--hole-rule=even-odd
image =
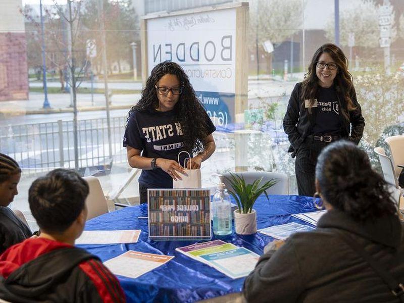
[{"label": "white chair back directly behind the potted plant", "polygon": [[[252,182],[260,178],[262,178],[262,182],[266,182],[271,179],[276,179],[277,183],[274,186],[268,188],[267,193],[268,194],[289,193],[288,177],[286,174],[274,173],[274,172],[232,172],[232,174],[242,176],[245,180],[245,183],[247,184],[251,184]],[[223,176],[229,178],[230,173],[224,173]],[[226,185],[227,189],[231,189],[231,185],[226,178],[224,178],[223,183]]]}]

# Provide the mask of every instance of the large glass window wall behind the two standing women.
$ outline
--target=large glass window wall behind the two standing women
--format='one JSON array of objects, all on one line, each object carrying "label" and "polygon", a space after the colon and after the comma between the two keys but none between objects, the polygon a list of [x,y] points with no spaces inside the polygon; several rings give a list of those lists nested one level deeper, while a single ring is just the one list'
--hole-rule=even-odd
[{"label": "large glass window wall behind the two standing women", "polygon": [[[127,164],[122,137],[145,81],[140,19],[226,3],[234,2],[43,0],[41,18],[39,0],[2,2],[0,151],[23,168],[12,207],[28,211],[30,183],[57,167],[96,175],[110,197],[136,203],[139,174]],[[250,0],[245,108],[233,127],[214,133],[217,150],[203,164],[203,186],[226,170],[266,170],[287,173],[290,193],[297,192],[282,119],[294,85],[326,42],[349,59],[366,119],[360,146],[378,168],[373,148],[404,133],[403,12],[399,0]]]}]

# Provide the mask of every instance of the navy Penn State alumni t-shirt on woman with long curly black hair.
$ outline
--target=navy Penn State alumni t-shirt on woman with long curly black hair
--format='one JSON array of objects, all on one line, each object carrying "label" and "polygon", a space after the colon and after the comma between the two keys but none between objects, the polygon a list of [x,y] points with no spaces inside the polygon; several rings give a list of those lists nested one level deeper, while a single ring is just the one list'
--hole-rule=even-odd
[{"label": "navy Penn State alumni t-shirt on woman with long curly black hair", "polygon": [[[209,134],[216,130],[212,120],[205,112]],[[191,117],[190,117],[191,118]],[[174,110],[159,112],[133,111],[125,129],[123,146],[131,146],[142,151],[146,158],[164,158],[178,161],[178,154],[186,150],[183,142],[181,125]],[[188,151],[192,157],[192,150]],[[186,154],[181,154],[180,164],[184,165]],[[162,169],[142,170],[139,183],[147,188],[172,188],[173,179]]]}]

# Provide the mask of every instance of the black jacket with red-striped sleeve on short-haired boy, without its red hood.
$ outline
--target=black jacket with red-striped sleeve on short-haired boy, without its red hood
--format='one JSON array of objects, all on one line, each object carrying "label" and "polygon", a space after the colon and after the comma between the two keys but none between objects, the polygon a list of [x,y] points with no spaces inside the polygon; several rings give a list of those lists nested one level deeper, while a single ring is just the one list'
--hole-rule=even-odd
[{"label": "black jacket with red-striped sleeve on short-haired boy, without its red hood", "polygon": [[[93,268],[94,274],[80,264]],[[96,276],[97,285],[89,275]],[[0,298],[14,303],[123,303],[125,295],[111,275],[84,249],[64,247],[21,265],[7,278],[0,275]]]}]

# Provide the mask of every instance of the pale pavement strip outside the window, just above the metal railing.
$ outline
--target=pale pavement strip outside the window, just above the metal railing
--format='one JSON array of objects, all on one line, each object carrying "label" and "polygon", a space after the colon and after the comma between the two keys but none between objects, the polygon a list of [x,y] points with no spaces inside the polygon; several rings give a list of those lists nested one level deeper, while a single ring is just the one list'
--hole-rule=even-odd
[{"label": "pale pavement strip outside the window, just above the metal railing", "polygon": [[[110,109],[129,109],[139,98],[140,93],[112,95]],[[73,112],[73,107],[70,106],[70,94],[68,93],[48,94],[48,102],[51,105],[50,109],[43,108],[43,101],[43,93],[31,92],[29,100],[0,102],[0,117]],[[105,109],[104,94],[93,94],[93,102],[90,93],[77,94],[77,110],[79,112],[102,111]]]}]

